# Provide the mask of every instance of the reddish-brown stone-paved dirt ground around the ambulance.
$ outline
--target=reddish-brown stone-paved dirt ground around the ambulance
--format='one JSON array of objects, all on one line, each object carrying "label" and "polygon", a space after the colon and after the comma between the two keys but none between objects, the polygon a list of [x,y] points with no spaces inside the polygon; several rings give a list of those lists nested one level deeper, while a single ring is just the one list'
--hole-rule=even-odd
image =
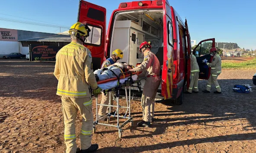
[{"label": "reddish-brown stone-paved dirt ground around the ambulance", "polygon": [[[61,100],[53,71],[54,63],[0,60],[0,152],[65,151]],[[207,81],[200,80],[200,92],[185,95],[182,105],[156,103],[151,128],[126,125],[119,139],[116,128],[97,125],[92,142],[99,144],[98,153],[255,153],[254,73],[223,70],[218,78],[223,94],[202,93]],[[251,84],[253,92],[233,92],[234,84]],[[132,101],[135,125],[141,120],[141,110],[140,102]],[[78,117],[79,147],[81,123]]]}]

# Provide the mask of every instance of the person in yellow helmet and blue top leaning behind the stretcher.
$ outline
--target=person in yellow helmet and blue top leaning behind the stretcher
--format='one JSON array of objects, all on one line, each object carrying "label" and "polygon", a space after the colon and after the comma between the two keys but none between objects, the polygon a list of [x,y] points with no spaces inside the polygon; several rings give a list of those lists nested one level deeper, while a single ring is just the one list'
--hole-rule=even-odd
[{"label": "person in yellow helmet and blue top leaning behind the stretcher", "polygon": [[[123,58],[123,51],[120,50],[120,49],[116,49],[112,52],[112,56],[108,59],[106,59],[106,61],[104,61],[101,65],[101,68],[106,68],[106,67],[109,67],[113,64],[116,63],[117,60],[122,60]],[[111,91],[112,94],[113,91]],[[100,104],[105,104],[105,105],[108,105],[109,104],[109,97],[111,95],[111,92],[107,92],[107,94],[105,95],[103,92],[102,92],[102,96],[101,96],[101,102]],[[111,105],[113,105],[113,99],[111,98]],[[103,117],[106,115],[106,110],[108,109],[108,106],[100,106],[100,109],[99,109],[99,117]],[[114,115],[112,113],[112,115]]]}]

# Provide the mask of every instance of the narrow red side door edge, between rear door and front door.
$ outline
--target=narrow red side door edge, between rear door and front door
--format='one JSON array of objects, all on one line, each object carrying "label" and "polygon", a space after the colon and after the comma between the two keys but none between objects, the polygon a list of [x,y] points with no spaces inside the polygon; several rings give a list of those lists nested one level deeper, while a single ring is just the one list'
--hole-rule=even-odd
[{"label": "narrow red side door edge, between rear door and front door", "polygon": [[190,41],[190,34],[188,31],[187,19],[185,20],[185,26],[186,26],[186,36],[187,36],[187,52],[185,52],[186,65],[187,65],[186,80],[187,80],[187,89],[188,89],[190,84],[190,73],[191,73],[191,41]]}]

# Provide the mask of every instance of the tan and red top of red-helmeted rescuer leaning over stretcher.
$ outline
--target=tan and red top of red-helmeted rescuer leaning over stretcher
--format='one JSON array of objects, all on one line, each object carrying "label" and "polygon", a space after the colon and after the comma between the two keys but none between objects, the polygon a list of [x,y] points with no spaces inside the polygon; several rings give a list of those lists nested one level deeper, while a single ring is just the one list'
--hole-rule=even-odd
[{"label": "tan and red top of red-helmeted rescuer leaning over stretcher", "polygon": [[151,51],[147,52],[147,54],[144,57],[144,61],[137,67],[133,68],[133,70],[135,70],[136,72],[142,71],[142,73],[139,75],[139,77],[153,76],[156,78],[155,81],[160,80],[159,75],[160,75],[161,66],[158,61],[158,58]]}]

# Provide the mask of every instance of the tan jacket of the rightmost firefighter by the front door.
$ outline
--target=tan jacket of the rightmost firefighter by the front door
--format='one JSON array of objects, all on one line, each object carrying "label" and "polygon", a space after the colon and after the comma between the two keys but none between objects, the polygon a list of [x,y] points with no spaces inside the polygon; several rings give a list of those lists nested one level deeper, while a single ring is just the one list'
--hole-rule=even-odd
[{"label": "tan jacket of the rightmost firefighter by the front door", "polygon": [[211,74],[219,75],[221,74],[221,56],[215,54],[212,59],[212,63],[206,63],[208,67],[211,67]]}]

